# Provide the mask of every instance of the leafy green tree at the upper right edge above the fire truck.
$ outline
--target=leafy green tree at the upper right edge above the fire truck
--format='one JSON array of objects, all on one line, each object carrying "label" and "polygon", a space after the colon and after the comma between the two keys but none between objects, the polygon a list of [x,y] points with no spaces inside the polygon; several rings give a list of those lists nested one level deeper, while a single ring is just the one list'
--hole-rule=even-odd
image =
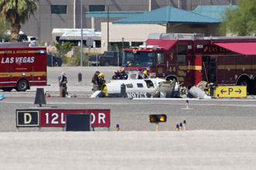
[{"label": "leafy green tree at the upper right edge above the fire truck", "polygon": [[222,19],[219,28],[222,35],[251,36],[256,32],[256,1],[238,1],[237,8],[227,8]]}]

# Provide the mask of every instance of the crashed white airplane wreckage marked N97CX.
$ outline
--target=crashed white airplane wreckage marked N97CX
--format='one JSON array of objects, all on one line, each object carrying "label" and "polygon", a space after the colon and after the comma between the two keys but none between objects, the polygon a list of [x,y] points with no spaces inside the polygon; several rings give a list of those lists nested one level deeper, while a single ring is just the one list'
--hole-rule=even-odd
[{"label": "crashed white airplane wreckage marked N97CX", "polygon": [[188,90],[175,80],[160,78],[139,79],[139,71],[129,71],[127,80],[110,80],[104,83],[101,90],[91,97],[127,97],[127,98],[201,98],[210,99],[199,87]]}]

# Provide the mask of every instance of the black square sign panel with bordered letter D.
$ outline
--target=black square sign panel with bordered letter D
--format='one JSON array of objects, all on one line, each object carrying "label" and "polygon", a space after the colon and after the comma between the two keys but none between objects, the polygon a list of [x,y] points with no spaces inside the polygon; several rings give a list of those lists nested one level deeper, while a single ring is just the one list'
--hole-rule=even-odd
[{"label": "black square sign panel with bordered letter D", "polygon": [[39,127],[40,110],[16,110],[16,127]]}]

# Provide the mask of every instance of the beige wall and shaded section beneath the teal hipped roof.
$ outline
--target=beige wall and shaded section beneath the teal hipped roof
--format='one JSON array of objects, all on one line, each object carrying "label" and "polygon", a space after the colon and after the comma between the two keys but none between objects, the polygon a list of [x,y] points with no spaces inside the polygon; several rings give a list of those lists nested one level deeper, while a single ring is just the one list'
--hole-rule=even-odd
[{"label": "beige wall and shaded section beneath the teal hipped roof", "polygon": [[[109,22],[109,50],[110,42],[144,42],[152,32],[175,33],[203,33],[205,36],[217,36],[218,24],[112,24]],[[107,22],[102,22],[102,53],[107,50]]]}]

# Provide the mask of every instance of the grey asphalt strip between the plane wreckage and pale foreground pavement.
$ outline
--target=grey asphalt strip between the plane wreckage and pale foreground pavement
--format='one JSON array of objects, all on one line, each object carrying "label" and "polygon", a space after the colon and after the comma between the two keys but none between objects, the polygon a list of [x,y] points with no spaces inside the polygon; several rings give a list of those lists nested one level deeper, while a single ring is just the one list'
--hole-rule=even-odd
[{"label": "grey asphalt strip between the plane wreckage and pale foreground pavement", "polygon": [[[176,124],[187,121],[188,130],[256,130],[256,100],[129,100],[126,98],[47,97],[43,107],[52,109],[110,109],[110,131],[155,131],[150,114],[166,114],[168,121],[160,124],[160,131],[175,131]],[[31,109],[35,97],[6,97],[0,101],[0,131],[16,131],[16,109]],[[39,109],[43,109],[40,108]],[[21,128],[20,131],[38,131]],[[95,128],[95,131],[107,131]],[[62,129],[42,128],[42,131]]]}]

